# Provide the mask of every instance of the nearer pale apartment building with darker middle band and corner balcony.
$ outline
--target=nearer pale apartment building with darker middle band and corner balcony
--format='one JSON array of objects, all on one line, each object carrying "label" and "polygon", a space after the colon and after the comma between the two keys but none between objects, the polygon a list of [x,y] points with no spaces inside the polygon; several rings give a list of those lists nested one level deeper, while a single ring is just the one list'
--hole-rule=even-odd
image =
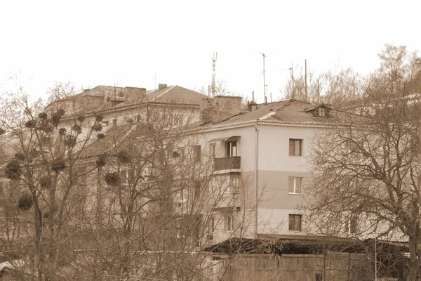
[{"label": "nearer pale apartment building with darker middle band and corner balcony", "polygon": [[231,117],[216,114],[208,120],[202,106],[201,150],[213,158],[214,183],[227,185],[227,198],[213,209],[215,242],[233,236],[308,234],[300,210],[310,176],[308,156],[315,131],[333,119],[330,110],[328,105],[282,100],[250,104]]}]

